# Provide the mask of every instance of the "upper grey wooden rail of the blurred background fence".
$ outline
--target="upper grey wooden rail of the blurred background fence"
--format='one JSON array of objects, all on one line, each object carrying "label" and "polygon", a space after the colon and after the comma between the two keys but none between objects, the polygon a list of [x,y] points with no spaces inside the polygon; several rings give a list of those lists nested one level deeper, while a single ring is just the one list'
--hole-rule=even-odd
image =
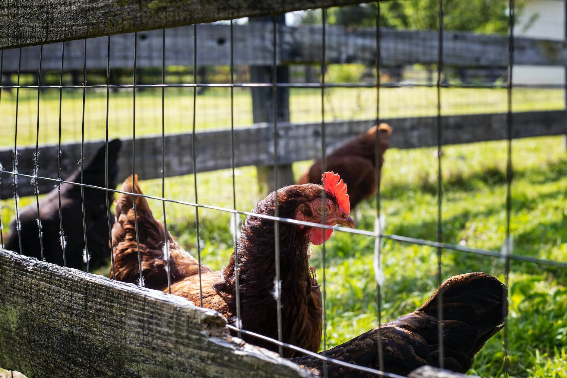
[{"label": "upper grey wooden rail of the blurred background fence", "polygon": [[[0,22],[1,24],[1,22]],[[1,30],[1,29],[0,29]],[[325,31],[326,58],[329,63],[375,64],[376,31],[328,26]],[[0,31],[1,33],[1,31]],[[272,65],[272,23],[234,26],[234,64]],[[410,31],[382,28],[380,51],[384,65],[437,63],[437,31]],[[320,26],[278,26],[277,63],[304,64],[321,61],[323,36]],[[107,68],[107,37],[87,40],[87,68]],[[506,66],[507,36],[446,31],[443,37],[443,61],[455,66]],[[567,47],[563,41],[516,38],[515,64],[567,65]],[[65,68],[83,69],[83,41],[65,45]],[[4,52],[5,72],[18,70],[19,49]],[[39,46],[22,50],[22,71],[37,72]],[[166,65],[193,65],[193,27],[166,30]],[[111,68],[132,68],[134,35],[111,37]],[[44,70],[61,69],[61,43],[44,46]],[[230,26],[203,24],[197,27],[197,65],[230,64]],[[162,66],[162,31],[138,33],[138,67]]]}]

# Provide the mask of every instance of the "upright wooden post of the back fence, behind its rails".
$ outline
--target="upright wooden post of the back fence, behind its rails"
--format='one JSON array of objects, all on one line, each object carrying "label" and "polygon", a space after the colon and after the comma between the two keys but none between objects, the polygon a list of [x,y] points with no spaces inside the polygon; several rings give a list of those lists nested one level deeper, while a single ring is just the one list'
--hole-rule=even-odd
[{"label": "upright wooden post of the back fence, behind its rails", "polygon": [[[270,25],[272,17],[250,18],[250,23],[264,23]],[[278,25],[285,25],[285,15],[276,16]],[[277,47],[276,47],[277,48]],[[272,66],[250,66],[250,81],[253,83],[271,83],[273,78]],[[289,66],[277,66],[277,81],[289,83]],[[289,88],[278,88],[276,91],[277,112],[276,120],[288,122],[289,118]],[[252,117],[254,123],[273,123],[273,104],[271,87],[252,88]],[[278,175],[278,187],[284,187],[294,183],[291,164],[277,165],[273,161],[266,161],[266,165],[256,166],[260,192],[263,194],[274,191],[274,174]]]}]

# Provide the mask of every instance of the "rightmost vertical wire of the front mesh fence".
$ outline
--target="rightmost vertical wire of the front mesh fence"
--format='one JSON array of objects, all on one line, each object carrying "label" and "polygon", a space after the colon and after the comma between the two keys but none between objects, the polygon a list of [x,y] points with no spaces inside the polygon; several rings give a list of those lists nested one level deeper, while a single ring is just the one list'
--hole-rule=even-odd
[{"label": "rightmost vertical wire of the front mesh fence", "polygon": [[[507,85],[507,112],[506,112],[506,137],[507,143],[507,162],[506,162],[506,240],[505,240],[505,268],[504,268],[504,284],[509,287],[510,280],[510,253],[511,253],[511,236],[510,236],[510,219],[512,211],[512,68],[514,65],[514,0],[509,0],[509,40],[508,40],[508,85]],[[506,302],[507,298],[503,300]],[[505,303],[504,302],[504,303]],[[503,315],[506,315],[507,308],[502,308]],[[509,353],[508,353],[508,327],[507,318],[504,318],[504,376],[509,376]]]}]

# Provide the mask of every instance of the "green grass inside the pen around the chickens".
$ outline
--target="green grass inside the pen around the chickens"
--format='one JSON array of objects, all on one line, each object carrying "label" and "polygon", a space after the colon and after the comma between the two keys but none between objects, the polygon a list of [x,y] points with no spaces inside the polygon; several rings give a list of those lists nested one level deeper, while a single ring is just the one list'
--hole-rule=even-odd
[{"label": "green grass inside the pen around the chickens", "polygon": [[[395,132],[395,131],[394,131]],[[567,154],[561,137],[513,142],[514,181],[510,232],[514,253],[567,261]],[[443,148],[443,241],[499,251],[506,234],[506,142]],[[310,162],[294,165],[298,175]],[[382,211],[386,233],[435,240],[437,228],[435,149],[388,150],[383,170]],[[232,208],[230,170],[197,175],[200,203]],[[5,183],[6,184],[6,183]],[[160,180],[142,182],[147,194],[161,195]],[[166,179],[166,196],[194,200],[193,176]],[[236,169],[237,208],[248,211],[258,194],[253,167]],[[33,198],[22,198],[20,204]],[[357,227],[372,230],[375,200],[354,212]],[[150,200],[163,218],[159,201]],[[2,201],[7,229],[13,200]],[[232,251],[229,214],[200,210],[202,259],[219,269]],[[172,234],[196,254],[195,209],[167,204]],[[335,232],[327,243],[327,347],[344,342],[378,323],[373,271],[374,240]],[[382,321],[413,311],[433,293],[437,282],[436,250],[384,240]],[[322,282],[321,247],[311,263]],[[500,259],[443,250],[443,278],[485,271],[503,280]],[[108,268],[99,271],[108,274]],[[567,348],[567,270],[511,262],[508,345],[510,374],[517,377],[565,377]],[[471,372],[503,376],[502,332],[483,348]]]}]

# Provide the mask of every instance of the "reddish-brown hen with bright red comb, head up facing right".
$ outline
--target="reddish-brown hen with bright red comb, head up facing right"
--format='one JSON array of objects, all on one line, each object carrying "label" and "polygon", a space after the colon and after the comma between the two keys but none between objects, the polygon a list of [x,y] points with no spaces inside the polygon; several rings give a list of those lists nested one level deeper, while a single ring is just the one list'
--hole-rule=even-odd
[{"label": "reddish-brown hen with bright red comb, head up facing right", "polygon": [[[326,203],[321,200],[326,191]],[[132,177],[126,179],[122,191],[132,191]],[[141,193],[137,178],[134,191]],[[325,173],[324,186],[319,184],[291,185],[277,191],[279,216],[320,223],[323,206],[328,225],[340,224],[354,228],[349,216],[349,196],[338,175]],[[256,204],[253,213],[274,215],[276,193],[270,193]],[[167,291],[164,227],[155,220],[145,198],[136,197],[139,251],[142,256],[143,284],[148,288]],[[279,223],[282,330],[284,342],[318,351],[321,342],[321,292],[309,266],[310,242],[316,245],[331,237],[332,230]],[[116,222],[112,228],[115,279],[137,283],[138,253],[134,225],[132,196],[122,194],[116,200]],[[274,299],[275,271],[274,222],[248,216],[237,243],[239,256],[240,313],[242,328],[277,339],[277,311]],[[171,256],[171,293],[200,303],[198,262],[184,251],[168,234]],[[236,315],[235,257],[221,272],[201,265],[202,301],[206,308],[220,312],[230,324]],[[112,277],[112,271],[111,271]],[[257,346],[277,350],[272,343],[243,338]],[[285,351],[286,357],[297,356]]]}]

